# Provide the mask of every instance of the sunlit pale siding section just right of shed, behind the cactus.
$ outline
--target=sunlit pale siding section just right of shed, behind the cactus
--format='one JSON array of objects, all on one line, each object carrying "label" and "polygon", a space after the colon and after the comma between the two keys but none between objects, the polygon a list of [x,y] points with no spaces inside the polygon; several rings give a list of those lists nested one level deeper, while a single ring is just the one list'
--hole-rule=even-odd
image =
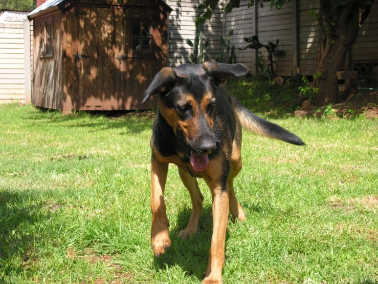
[{"label": "sunlit pale siding section just right of shed, behind the cactus", "polygon": [[[182,63],[190,63],[189,56],[193,48],[186,44],[185,38],[194,41],[195,18],[199,0],[170,0],[166,3],[173,9],[169,15],[169,55],[168,66],[177,66]],[[218,53],[219,35],[223,35],[223,21],[219,9],[213,13],[210,22],[204,27],[204,43],[210,44],[208,60],[214,60]]]}]

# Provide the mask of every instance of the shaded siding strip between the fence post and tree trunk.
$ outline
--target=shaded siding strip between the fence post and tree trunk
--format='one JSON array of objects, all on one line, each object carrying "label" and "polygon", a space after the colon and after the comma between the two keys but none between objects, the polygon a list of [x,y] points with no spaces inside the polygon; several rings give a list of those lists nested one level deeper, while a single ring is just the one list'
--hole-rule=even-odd
[{"label": "shaded siding strip between the fence post and tree trunk", "polygon": [[319,14],[319,0],[299,1],[299,69],[300,74],[314,75],[318,58],[319,23],[310,15]]}]

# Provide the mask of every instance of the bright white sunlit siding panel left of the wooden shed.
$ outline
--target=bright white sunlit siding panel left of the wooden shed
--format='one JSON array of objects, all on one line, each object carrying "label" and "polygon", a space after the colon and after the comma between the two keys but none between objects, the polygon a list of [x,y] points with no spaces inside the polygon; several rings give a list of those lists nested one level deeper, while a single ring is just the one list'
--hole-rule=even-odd
[{"label": "bright white sunlit siding panel left of the wooden shed", "polygon": [[23,23],[0,23],[0,103],[24,102]]}]

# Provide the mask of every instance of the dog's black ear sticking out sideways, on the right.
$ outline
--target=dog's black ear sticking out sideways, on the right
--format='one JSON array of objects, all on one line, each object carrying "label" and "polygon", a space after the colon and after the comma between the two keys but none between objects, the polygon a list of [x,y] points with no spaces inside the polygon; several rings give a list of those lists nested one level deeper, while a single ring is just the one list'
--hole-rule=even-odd
[{"label": "dog's black ear sticking out sideways, on the right", "polygon": [[244,64],[225,64],[205,62],[203,68],[212,76],[218,79],[219,83],[225,83],[231,76],[241,77],[248,73],[248,67]]}]

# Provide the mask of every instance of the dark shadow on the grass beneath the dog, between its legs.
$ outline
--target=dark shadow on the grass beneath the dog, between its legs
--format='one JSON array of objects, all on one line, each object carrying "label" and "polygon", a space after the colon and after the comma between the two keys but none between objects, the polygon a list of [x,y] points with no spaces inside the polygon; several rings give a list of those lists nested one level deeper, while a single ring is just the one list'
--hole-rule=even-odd
[{"label": "dark shadow on the grass beneath the dog, between its legs", "polygon": [[[199,220],[198,232],[187,240],[179,238],[181,230],[185,229],[191,214],[191,208],[185,206],[177,216],[177,226],[169,232],[172,241],[171,247],[159,258],[154,258],[155,270],[166,270],[179,266],[186,275],[203,279],[207,269],[209,250],[212,236],[212,210],[206,207],[202,211]],[[229,231],[226,231],[226,240],[229,238]]]}]

